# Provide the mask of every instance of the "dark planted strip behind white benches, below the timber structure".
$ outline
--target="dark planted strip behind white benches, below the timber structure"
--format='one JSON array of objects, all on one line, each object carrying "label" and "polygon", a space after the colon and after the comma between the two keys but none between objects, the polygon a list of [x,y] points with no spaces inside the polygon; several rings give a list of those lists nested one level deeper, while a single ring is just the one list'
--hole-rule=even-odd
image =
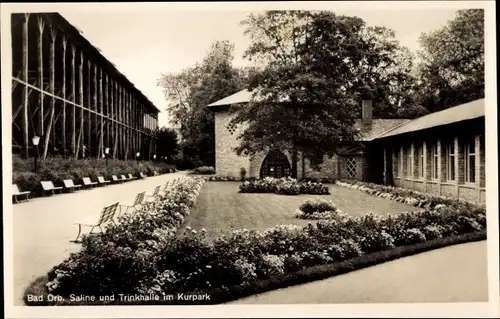
[{"label": "dark planted strip behind white benches, below the timber structure", "polygon": [[30,191],[32,195],[41,193],[40,181],[49,180],[54,186],[64,186],[63,180],[72,179],[75,184],[81,184],[82,177],[90,177],[97,181],[97,176],[104,176],[110,180],[112,175],[132,174],[139,177],[142,172],[153,176],[154,171],[159,174],[175,172],[172,165],[160,162],[121,161],[109,159],[108,164],[104,159],[70,159],[70,158],[47,158],[39,161],[38,172],[33,172],[33,159],[22,159],[13,156],[12,161],[12,183],[17,184],[20,190]]}]

